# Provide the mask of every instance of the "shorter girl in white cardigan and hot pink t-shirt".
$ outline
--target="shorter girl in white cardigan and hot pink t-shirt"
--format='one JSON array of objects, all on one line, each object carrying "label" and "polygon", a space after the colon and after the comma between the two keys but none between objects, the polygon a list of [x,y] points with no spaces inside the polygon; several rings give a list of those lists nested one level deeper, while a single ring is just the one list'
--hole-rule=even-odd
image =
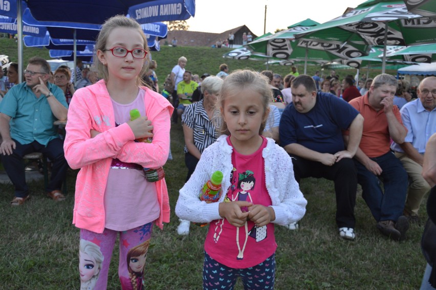
[{"label": "shorter girl in white cardigan and hot pink t-shirt", "polygon": [[[271,96],[268,80],[258,73],[235,71],[226,77],[216,102],[221,110],[217,130],[225,135],[203,151],[180,190],[176,214],[210,222],[204,289],[232,289],[238,276],[246,289],[273,288],[274,224],[285,226],[306,212],[291,158],[274,140],[260,135]],[[203,185],[216,170],[224,175],[223,194],[219,202],[201,202]]]}]

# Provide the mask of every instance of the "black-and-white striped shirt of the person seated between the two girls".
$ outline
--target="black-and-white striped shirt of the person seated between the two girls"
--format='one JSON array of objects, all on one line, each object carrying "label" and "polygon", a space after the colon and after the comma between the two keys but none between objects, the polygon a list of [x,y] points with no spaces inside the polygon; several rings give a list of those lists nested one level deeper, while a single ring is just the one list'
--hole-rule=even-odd
[{"label": "black-and-white striped shirt of the person seated between the two girls", "polygon": [[[215,126],[209,120],[207,112],[203,106],[203,100],[190,104],[185,108],[182,115],[182,124],[185,124],[193,130],[194,145],[201,153],[210,144],[216,141]],[[185,145],[185,153],[188,153],[188,148]]]}]

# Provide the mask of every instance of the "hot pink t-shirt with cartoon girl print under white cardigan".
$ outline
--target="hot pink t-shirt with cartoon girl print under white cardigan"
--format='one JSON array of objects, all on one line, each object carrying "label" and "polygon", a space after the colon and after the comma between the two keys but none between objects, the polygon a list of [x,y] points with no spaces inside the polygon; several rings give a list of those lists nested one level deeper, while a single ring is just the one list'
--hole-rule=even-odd
[{"label": "hot pink t-shirt with cartoon girl print under white cardigan", "polygon": [[[231,146],[229,137],[227,142]],[[271,198],[265,186],[262,157],[266,145],[267,140],[263,137],[262,145],[253,154],[242,155],[233,149],[231,186],[227,192],[230,200],[247,200],[253,204],[271,206]],[[214,220],[210,223],[204,249],[214,260],[228,267],[245,269],[255,266],[277,249],[274,224],[257,228],[249,220],[245,226],[236,228],[226,219]]]}]

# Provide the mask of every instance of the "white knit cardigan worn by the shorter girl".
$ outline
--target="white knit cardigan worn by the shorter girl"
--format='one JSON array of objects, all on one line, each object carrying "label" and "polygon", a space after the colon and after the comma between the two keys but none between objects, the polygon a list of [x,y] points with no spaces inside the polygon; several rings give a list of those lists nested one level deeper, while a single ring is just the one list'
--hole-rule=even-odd
[{"label": "white knit cardigan worn by the shorter girl", "polygon": [[[211,222],[221,219],[218,207],[230,187],[232,147],[227,136],[220,136],[215,143],[206,148],[189,181],[180,190],[176,214],[181,219],[194,222]],[[289,225],[300,220],[306,212],[307,200],[303,197],[294,178],[292,160],[288,153],[267,138],[267,146],[262,151],[265,160],[265,183],[271,197],[275,220],[278,225]],[[216,170],[223,172],[223,193],[219,202],[207,204],[199,198],[203,185]]]}]

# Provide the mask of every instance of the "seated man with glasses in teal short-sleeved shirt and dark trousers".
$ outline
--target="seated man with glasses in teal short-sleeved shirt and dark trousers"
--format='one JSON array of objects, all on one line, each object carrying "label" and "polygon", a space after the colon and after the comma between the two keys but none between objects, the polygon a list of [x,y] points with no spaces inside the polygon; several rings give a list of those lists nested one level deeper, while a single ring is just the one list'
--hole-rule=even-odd
[{"label": "seated man with glasses in teal short-sleeved shirt and dark trousers", "polygon": [[23,156],[41,152],[53,162],[48,188],[49,197],[64,200],[60,191],[68,164],[64,158],[63,141],[59,138],[56,120],[66,120],[68,105],[62,90],[48,82],[50,64],[42,58],[29,59],[24,71],[26,81],[14,85],[0,103],[0,145],[2,162],[15,187],[13,206],[23,205],[30,198],[26,184]]}]

